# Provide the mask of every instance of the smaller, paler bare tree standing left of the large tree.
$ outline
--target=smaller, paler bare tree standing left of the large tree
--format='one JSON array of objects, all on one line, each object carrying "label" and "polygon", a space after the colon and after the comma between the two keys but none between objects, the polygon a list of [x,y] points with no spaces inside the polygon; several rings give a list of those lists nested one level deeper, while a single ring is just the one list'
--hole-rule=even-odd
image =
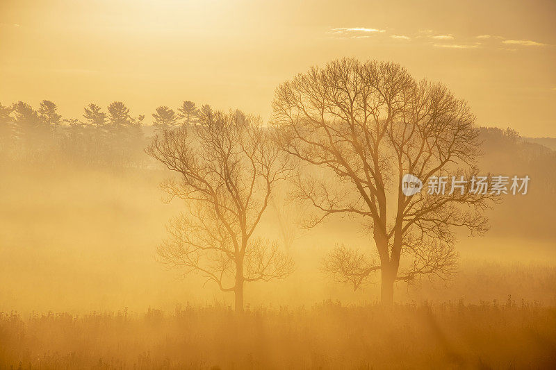
[{"label": "smaller, paler bare tree standing left of the large tree", "polygon": [[168,226],[158,248],[163,262],[234,292],[238,312],[244,283],[291,273],[277,244],[255,236],[272,189],[291,174],[260,119],[206,106],[198,125],[157,135],[147,153],[179,175],[163,188],[188,208]]}]

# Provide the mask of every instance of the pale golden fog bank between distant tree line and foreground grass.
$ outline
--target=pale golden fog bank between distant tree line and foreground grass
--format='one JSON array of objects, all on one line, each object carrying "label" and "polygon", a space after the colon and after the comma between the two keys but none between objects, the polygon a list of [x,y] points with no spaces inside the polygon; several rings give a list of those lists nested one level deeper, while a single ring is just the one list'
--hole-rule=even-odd
[{"label": "pale golden fog bank between distant tree line and foreground grass", "polygon": [[[497,155],[506,149],[493,149],[492,141],[484,145],[485,167],[511,174],[527,171],[516,160],[523,153],[506,152],[507,160],[502,162]],[[445,282],[424,278],[410,285],[396,283],[395,300],[479,303],[505,301],[511,295],[517,301],[554,304],[554,197],[549,196],[553,187],[543,188],[554,176],[553,153],[549,157],[553,162],[542,157],[545,162],[539,164],[546,171],[530,167],[534,172],[530,194],[506,196],[489,211],[489,232],[470,237],[459,230],[455,276]],[[149,307],[172,311],[186,303],[233,306],[231,294],[220,292],[210,282],[204,285],[204,279],[195,274],[183,276],[179,269],[169,269],[156,256],[156,246],[166,235],[165,224],[183,210],[181,201],[163,202],[159,183],[169,176],[168,171],[156,165],[87,169],[5,163],[2,174],[0,311],[76,314],[124,308],[144,312]],[[372,251],[372,238],[363,235],[360,222],[334,217],[316,228],[303,229],[300,217],[292,217],[300,210],[284,200],[286,191],[277,191],[277,201],[268,208],[259,233],[279,239],[277,212],[282,214],[295,235],[287,251],[295,271],[285,280],[247,285],[246,304],[296,308],[325,300],[377,302],[379,276],[354,292],[319,268],[336,244]]]}]

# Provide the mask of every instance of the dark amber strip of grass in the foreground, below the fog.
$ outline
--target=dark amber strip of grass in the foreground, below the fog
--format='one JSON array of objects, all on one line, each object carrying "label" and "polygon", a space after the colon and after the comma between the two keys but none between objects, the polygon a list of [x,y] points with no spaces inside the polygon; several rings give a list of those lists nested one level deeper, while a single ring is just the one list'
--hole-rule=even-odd
[{"label": "dark amber strip of grass in the foreground, below the fog", "polygon": [[537,303],[223,307],[0,314],[1,369],[548,369],[556,308]]}]

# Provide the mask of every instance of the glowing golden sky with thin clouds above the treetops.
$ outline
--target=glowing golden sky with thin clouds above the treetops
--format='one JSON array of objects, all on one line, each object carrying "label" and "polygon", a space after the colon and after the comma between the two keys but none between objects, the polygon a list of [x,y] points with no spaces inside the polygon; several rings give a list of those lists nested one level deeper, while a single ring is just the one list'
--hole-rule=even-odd
[{"label": "glowing golden sky with thin clouds above the treetops", "polygon": [[481,126],[556,137],[556,1],[0,0],[0,102],[79,117],[183,100],[268,118],[275,87],[343,56],[443,81]]}]

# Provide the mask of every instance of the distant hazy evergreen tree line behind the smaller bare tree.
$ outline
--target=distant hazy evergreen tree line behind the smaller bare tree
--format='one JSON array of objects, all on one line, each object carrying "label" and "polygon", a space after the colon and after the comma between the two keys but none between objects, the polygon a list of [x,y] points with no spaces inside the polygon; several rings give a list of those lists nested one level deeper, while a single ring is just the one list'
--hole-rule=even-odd
[{"label": "distant hazy evergreen tree line behind the smaller bare tree", "polygon": [[[196,124],[202,112],[192,101],[184,101],[177,112],[160,106],[152,114],[155,131],[182,124]],[[9,106],[0,103],[0,158],[3,162],[56,162],[110,167],[142,167],[143,153],[152,130],[144,115],[132,115],[122,101],[106,110],[95,103],[83,108],[79,118],[64,118],[49,100],[33,108],[24,101]]]}]

